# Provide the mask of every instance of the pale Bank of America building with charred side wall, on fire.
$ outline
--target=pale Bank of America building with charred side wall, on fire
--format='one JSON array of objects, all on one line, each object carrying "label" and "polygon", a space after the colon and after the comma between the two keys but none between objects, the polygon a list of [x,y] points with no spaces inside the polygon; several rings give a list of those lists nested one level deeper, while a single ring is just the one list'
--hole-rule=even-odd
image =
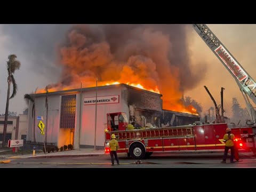
[{"label": "pale Bank of America building with charred side wall, on fire", "polygon": [[[95,128],[96,145],[103,147],[107,113],[124,112],[129,122],[137,126],[188,125],[199,121],[198,115],[163,110],[162,94],[127,84],[114,84],[47,93],[46,125],[46,93],[31,96],[35,98],[36,116],[42,116],[45,129],[47,127],[47,142],[57,143],[59,147],[70,143],[74,148],[78,145],[80,148],[93,147]],[[29,111],[32,108],[33,103],[30,102]],[[28,118],[27,140],[33,140],[34,120],[31,116]],[[38,123],[36,119],[36,125]],[[37,142],[44,141],[45,135],[38,127],[35,134]]]}]

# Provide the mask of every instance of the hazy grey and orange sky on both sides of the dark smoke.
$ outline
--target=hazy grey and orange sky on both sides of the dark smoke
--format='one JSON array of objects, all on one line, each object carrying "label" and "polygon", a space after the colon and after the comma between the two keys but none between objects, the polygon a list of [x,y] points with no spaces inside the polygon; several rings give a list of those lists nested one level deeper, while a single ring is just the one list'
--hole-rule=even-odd
[{"label": "hazy grey and orange sky on both sides of the dark smoke", "polygon": [[[254,60],[256,59],[256,54],[254,53],[254,45],[256,44],[256,38],[252,38],[256,33],[256,25],[209,24],[207,26],[219,38],[222,44],[226,46],[229,52],[233,54],[247,73],[253,79],[256,79],[256,75],[253,73],[255,71]],[[114,27],[118,29],[118,25]],[[135,27],[138,28],[138,26]],[[157,30],[163,30],[163,34],[166,31],[177,33],[175,27],[178,28],[179,26],[172,26],[170,28],[165,26],[163,29],[159,27]],[[23,99],[24,94],[34,92],[37,87],[38,89],[43,89],[48,84],[60,82],[61,75],[63,76],[63,65],[58,64],[59,51],[60,47],[63,47],[63,43],[66,43],[65,37],[71,28],[73,28],[73,25],[0,25],[0,114],[5,113],[7,96],[6,61],[8,55],[16,54],[17,59],[21,62],[20,70],[15,71],[14,74],[18,84],[18,93],[10,100],[9,110],[22,114],[22,111],[27,107]],[[102,29],[102,26],[93,25],[92,28]],[[105,26],[104,30],[105,32],[107,31],[106,35],[109,35],[108,33],[111,30],[107,28]],[[186,43],[184,44],[186,46],[186,55],[184,57],[188,58],[186,61],[188,62],[189,70],[183,68],[186,71],[186,73],[183,73],[183,76],[186,76],[189,72],[188,76],[191,81],[196,82],[194,84],[189,83],[189,78],[187,82],[181,81],[186,84],[182,88],[185,97],[189,96],[201,103],[204,113],[210,107],[214,106],[211,98],[204,89],[204,85],[208,87],[218,105],[220,104],[221,87],[224,87],[223,98],[226,116],[232,115],[231,101],[233,97],[236,97],[240,105],[245,107],[242,93],[235,79],[229,74],[228,70],[222,65],[201,37],[197,35],[193,27],[186,25],[180,28],[184,28],[186,34],[184,36],[178,36],[180,39],[175,43],[172,43],[172,41],[175,41],[175,38],[170,39],[169,44],[172,45],[173,53],[177,55],[181,47],[183,47],[183,42]],[[102,30],[98,30],[98,32],[102,33]],[[125,38],[125,36],[122,38]],[[159,39],[163,41],[161,44],[165,44],[165,38]],[[182,46],[179,46],[179,42],[182,43]],[[127,50],[126,48],[123,50]],[[179,52],[175,52],[175,49]],[[169,52],[166,54],[169,54]],[[182,54],[173,60],[170,59],[170,61],[182,60],[181,57]],[[161,80],[161,78],[159,79]]]}]

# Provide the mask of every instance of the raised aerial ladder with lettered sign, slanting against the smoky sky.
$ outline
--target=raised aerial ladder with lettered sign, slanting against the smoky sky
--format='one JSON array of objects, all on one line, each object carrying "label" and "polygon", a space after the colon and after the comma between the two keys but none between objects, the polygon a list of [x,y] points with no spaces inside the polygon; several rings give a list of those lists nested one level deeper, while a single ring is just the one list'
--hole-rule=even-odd
[{"label": "raised aerial ladder with lettered sign, slanting against the smoky sky", "polygon": [[205,24],[193,24],[196,33],[210,47],[212,52],[219,58],[221,63],[228,69],[229,73],[235,78],[246,102],[246,107],[250,113],[253,124],[256,124],[256,111],[249,98],[256,105],[256,83],[253,78],[245,71],[233,55],[226,49],[220,40],[212,33]]}]

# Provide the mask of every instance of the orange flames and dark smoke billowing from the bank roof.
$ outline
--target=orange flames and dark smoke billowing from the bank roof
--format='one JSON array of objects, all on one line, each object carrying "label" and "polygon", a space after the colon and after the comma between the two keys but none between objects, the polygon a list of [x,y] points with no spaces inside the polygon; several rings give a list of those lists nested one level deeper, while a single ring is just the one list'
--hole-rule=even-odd
[{"label": "orange flames and dark smoke billowing from the bank roof", "polygon": [[[176,25],[78,25],[60,46],[62,75],[49,92],[124,83],[163,95],[163,109],[185,107],[182,90],[198,83],[190,71],[185,28]],[[203,70],[203,67],[198,67]],[[44,93],[39,90],[37,93]]]}]

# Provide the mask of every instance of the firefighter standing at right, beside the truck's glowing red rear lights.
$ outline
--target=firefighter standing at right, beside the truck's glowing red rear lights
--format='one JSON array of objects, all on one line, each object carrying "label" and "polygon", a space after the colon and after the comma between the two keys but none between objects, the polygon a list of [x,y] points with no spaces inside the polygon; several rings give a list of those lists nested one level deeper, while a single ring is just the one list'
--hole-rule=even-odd
[{"label": "firefighter standing at right, beside the truck's glowing red rear lights", "polygon": [[226,132],[227,133],[223,137],[223,140],[226,144],[225,144],[223,160],[222,160],[221,163],[226,163],[226,159],[227,159],[229,149],[231,151],[230,163],[235,163],[234,162],[234,155],[235,155],[234,139],[235,139],[235,135],[233,133],[231,133],[231,129],[229,129],[229,128],[226,129]]}]

